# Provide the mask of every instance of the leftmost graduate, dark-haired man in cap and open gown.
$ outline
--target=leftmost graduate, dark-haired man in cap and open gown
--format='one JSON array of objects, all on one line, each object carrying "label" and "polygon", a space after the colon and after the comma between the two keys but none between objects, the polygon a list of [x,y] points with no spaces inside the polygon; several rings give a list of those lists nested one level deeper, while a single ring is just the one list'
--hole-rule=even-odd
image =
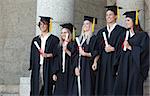
[{"label": "leftmost graduate, dark-haired man in cap and open gown", "polygon": [[31,43],[30,68],[31,96],[50,96],[52,94],[52,75],[55,73],[56,49],[59,38],[52,35],[51,17],[40,16],[41,34]]}]

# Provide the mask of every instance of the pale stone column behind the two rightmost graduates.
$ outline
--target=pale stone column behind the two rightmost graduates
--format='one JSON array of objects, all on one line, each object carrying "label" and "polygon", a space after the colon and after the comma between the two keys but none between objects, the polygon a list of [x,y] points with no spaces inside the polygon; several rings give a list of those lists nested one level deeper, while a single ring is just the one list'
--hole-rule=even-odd
[{"label": "pale stone column behind the two rightmost graduates", "polygon": [[123,9],[120,11],[120,20],[118,20],[118,23],[125,26],[125,16],[122,14],[126,11],[132,11],[136,10],[136,8],[140,9],[139,12],[139,20],[141,27],[144,29],[145,23],[144,23],[144,1],[143,0],[116,0],[116,4],[118,6],[123,7]]}]

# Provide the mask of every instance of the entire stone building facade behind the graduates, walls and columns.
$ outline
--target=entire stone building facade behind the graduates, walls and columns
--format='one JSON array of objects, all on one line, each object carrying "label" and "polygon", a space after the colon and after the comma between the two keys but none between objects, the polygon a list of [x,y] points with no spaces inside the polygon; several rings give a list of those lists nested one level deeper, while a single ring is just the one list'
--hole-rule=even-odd
[{"label": "entire stone building facade behind the graduates, walls and columns", "polygon": [[[77,33],[80,33],[84,15],[98,18],[98,30],[105,25],[104,6],[115,2],[124,7],[127,2],[136,2],[137,7],[143,10],[140,17],[142,27],[150,35],[150,0],[0,0],[0,95],[19,96],[23,91],[21,88],[28,87],[20,84],[29,82],[24,77],[29,77],[30,44],[32,38],[39,34],[39,15],[54,17],[53,34],[57,36],[59,24],[64,22],[74,23]],[[134,8],[129,4],[123,11]],[[123,25],[123,18],[121,20],[118,23]],[[144,86],[144,94],[150,95],[150,76]]]}]

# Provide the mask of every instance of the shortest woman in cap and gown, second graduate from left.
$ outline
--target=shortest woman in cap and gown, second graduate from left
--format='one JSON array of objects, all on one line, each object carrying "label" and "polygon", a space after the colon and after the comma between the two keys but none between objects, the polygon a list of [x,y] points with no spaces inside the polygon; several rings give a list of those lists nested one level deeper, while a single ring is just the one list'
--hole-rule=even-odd
[{"label": "shortest woman in cap and gown, second graduate from left", "polygon": [[[72,81],[71,76],[71,46],[72,46],[72,32],[75,27],[71,23],[65,23],[62,26],[60,44],[58,46],[58,58],[57,62],[59,68],[57,70],[57,80],[54,95],[67,96],[69,83]],[[64,52],[64,53],[63,53]],[[65,58],[63,57],[65,54]],[[65,62],[64,62],[65,61]],[[64,63],[63,63],[64,62]]]}]

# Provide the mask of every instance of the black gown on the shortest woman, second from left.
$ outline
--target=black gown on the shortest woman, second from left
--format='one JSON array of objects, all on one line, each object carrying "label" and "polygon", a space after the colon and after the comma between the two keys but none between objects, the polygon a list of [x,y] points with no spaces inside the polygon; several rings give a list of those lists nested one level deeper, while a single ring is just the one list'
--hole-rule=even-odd
[{"label": "black gown on the shortest woman, second from left", "polygon": [[[67,49],[70,50],[71,47],[71,42],[67,45]],[[71,57],[66,53],[65,54],[65,72],[62,72],[62,46],[58,47],[59,51],[58,51],[58,65],[59,65],[59,70],[57,72],[57,81],[56,81],[56,88],[55,88],[55,92],[54,95],[61,95],[61,96],[66,96],[68,95],[68,86],[69,86],[69,80],[71,80],[71,74],[70,74],[70,61],[71,61]]]}]

